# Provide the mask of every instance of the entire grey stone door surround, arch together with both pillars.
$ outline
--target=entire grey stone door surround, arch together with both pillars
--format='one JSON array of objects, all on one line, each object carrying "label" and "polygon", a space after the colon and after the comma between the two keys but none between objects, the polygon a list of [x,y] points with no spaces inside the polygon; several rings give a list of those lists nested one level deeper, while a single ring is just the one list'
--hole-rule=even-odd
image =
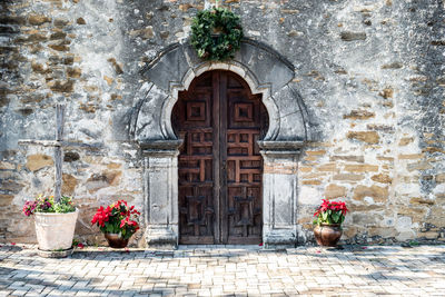
[{"label": "entire grey stone door surround, arch together with both pillars", "polygon": [[209,70],[229,70],[244,78],[253,93],[263,93],[269,130],[259,146],[264,157],[264,229],[266,247],[294,245],[297,238],[297,168],[307,139],[306,110],[291,87],[295,70],[271,48],[245,39],[227,62],[200,60],[187,43],[162,50],[141,72],[130,136],[145,158],[146,239],[150,246],[178,244],[178,166],[181,140],[171,128],[178,91]]}]

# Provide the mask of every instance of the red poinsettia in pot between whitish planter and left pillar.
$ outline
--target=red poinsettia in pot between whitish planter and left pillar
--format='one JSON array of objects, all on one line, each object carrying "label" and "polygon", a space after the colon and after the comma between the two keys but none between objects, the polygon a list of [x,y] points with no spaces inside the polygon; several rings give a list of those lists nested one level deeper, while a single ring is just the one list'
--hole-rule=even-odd
[{"label": "red poinsettia in pot between whitish planter and left pillar", "polygon": [[112,248],[125,248],[130,237],[139,229],[136,221],[140,212],[135,206],[128,207],[127,201],[118,200],[107,208],[98,208],[91,224],[99,226],[108,245]]}]

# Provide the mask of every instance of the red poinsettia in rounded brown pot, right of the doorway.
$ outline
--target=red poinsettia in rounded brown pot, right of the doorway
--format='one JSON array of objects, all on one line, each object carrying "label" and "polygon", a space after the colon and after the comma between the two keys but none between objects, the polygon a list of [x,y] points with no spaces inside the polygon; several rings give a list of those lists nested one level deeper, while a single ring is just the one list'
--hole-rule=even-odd
[{"label": "red poinsettia in rounded brown pot, right of the doorway", "polygon": [[342,222],[349,211],[343,201],[323,199],[323,204],[315,211],[314,236],[317,244],[326,247],[336,247],[342,237]]}]

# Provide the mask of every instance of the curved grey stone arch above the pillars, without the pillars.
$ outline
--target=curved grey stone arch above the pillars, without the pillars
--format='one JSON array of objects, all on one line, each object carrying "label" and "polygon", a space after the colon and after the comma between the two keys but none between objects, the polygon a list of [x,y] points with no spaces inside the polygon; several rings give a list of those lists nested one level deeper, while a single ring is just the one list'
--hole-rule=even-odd
[{"label": "curved grey stone arch above the pillars, without the pillars", "polygon": [[144,85],[135,105],[130,136],[138,142],[176,139],[170,115],[178,91],[187,90],[195,77],[208,70],[229,70],[244,78],[253,93],[263,93],[270,126],[264,140],[307,139],[305,109],[293,90],[294,66],[270,47],[244,39],[233,60],[208,62],[199,59],[190,44],[175,43],[147,65]]}]

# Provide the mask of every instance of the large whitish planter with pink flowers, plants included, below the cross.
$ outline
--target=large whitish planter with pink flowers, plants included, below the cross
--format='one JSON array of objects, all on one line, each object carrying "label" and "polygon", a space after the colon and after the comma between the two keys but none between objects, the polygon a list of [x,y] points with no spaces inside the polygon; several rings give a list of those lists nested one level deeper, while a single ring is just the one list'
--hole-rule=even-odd
[{"label": "large whitish planter with pink flowers, plants included, below the cross", "polygon": [[[33,201],[26,201],[23,214],[34,215],[36,235],[42,251],[63,251],[72,247],[78,209],[72,198],[62,196],[55,201],[53,196],[38,196]],[[68,255],[68,254],[67,254]]]}]

